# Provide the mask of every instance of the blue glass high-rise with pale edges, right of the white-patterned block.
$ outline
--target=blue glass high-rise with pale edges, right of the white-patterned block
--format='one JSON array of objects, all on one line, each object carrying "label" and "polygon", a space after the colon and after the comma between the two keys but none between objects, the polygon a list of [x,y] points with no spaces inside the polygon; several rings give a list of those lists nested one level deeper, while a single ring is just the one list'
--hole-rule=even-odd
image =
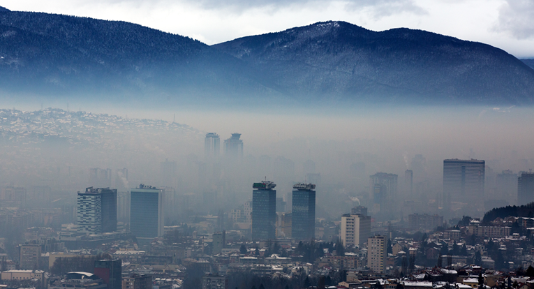
[{"label": "blue glass high-rise with pale edges, right of the white-patterned block", "polygon": [[149,241],[163,236],[164,191],[140,184],[130,193],[130,231],[137,239]]}]

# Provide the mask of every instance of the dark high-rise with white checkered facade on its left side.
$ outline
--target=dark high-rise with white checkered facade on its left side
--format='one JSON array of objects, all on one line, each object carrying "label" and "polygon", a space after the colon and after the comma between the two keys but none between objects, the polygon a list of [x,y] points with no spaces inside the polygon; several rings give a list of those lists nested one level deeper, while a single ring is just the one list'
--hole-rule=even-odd
[{"label": "dark high-rise with white checkered facade on its left side", "polygon": [[78,231],[100,234],[117,230],[117,190],[86,188],[77,193]]}]

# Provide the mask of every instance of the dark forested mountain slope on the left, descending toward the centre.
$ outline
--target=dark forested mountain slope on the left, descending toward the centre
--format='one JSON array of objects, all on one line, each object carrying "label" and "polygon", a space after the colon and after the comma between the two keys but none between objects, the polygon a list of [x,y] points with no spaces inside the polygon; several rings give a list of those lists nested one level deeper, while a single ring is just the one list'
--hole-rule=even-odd
[{"label": "dark forested mountain slope on the left, descending toward the centre", "polygon": [[4,10],[0,36],[6,93],[150,103],[268,91],[235,57],[138,24]]}]

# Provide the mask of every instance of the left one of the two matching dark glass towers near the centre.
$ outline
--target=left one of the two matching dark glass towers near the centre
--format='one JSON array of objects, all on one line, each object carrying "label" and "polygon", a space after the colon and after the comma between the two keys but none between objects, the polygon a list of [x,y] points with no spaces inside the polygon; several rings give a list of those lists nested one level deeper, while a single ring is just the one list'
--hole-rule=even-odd
[{"label": "left one of the two matching dark glass towers near the centre", "polygon": [[276,239],[276,184],[262,181],[252,187],[252,239]]}]

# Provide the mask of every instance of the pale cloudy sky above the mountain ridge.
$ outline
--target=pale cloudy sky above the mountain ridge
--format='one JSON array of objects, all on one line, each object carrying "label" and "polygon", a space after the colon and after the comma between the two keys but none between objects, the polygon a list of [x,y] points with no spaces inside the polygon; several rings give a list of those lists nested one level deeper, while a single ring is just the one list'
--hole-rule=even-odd
[{"label": "pale cloudy sky above the mountain ridge", "polygon": [[534,58],[533,0],[0,0],[10,10],[122,20],[209,45],[339,20],[422,29]]}]

